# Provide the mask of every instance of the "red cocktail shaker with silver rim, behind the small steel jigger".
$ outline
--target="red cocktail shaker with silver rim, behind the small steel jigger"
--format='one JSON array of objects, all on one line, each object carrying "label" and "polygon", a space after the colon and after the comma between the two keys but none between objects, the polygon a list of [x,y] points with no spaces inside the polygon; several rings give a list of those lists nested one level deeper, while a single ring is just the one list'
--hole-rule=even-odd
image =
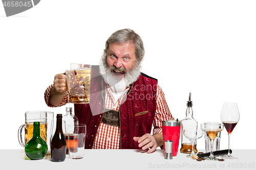
[{"label": "red cocktail shaker with silver rim, behind the small steel jigger", "polygon": [[[180,120],[163,120],[162,125],[163,125],[163,141],[165,140],[173,141],[172,155],[177,156],[179,141],[180,141]],[[163,145],[164,145],[164,142],[163,142]]]}]

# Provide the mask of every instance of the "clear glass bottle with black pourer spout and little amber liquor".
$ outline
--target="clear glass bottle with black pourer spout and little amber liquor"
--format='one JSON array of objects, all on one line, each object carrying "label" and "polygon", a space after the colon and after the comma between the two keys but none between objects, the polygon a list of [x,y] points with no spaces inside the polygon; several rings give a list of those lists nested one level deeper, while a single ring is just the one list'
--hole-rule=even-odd
[{"label": "clear glass bottle with black pourer spout and little amber liquor", "polygon": [[[181,153],[190,154],[192,151],[191,141],[183,135],[183,130],[187,128],[197,129],[197,120],[193,118],[193,103],[191,101],[191,93],[189,93],[189,99],[187,101],[186,117],[181,120]],[[194,151],[197,153],[197,143],[195,143]]]}]

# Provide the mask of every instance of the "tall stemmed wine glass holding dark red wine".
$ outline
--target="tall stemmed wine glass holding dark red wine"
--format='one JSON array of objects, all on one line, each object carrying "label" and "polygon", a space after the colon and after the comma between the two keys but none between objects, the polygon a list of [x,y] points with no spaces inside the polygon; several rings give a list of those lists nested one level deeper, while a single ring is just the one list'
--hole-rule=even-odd
[{"label": "tall stemmed wine glass holding dark red wine", "polygon": [[237,103],[224,102],[221,110],[221,121],[224,124],[228,133],[228,154],[221,156],[226,159],[237,159],[230,154],[230,136],[234,127],[239,121],[239,110]]}]

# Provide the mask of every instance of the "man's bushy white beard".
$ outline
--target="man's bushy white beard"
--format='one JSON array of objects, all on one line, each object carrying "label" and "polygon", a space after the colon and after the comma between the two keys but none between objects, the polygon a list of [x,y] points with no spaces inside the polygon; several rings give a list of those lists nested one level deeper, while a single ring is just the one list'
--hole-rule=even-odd
[{"label": "man's bushy white beard", "polygon": [[99,71],[104,81],[110,85],[113,91],[123,92],[126,87],[134,83],[140,76],[141,64],[137,64],[130,70],[124,72],[121,78],[115,77],[112,70],[106,64],[106,57],[102,56],[99,63]]}]

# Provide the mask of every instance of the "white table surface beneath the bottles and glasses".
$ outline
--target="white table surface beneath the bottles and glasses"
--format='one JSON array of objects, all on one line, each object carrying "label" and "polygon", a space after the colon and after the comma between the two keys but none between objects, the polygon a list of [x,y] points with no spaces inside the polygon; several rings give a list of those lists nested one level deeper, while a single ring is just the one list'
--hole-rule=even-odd
[{"label": "white table surface beneath the bottles and glasses", "polygon": [[[200,150],[199,150],[200,151]],[[164,151],[156,150],[147,154],[142,150],[84,150],[82,159],[69,159],[52,162],[50,156],[41,160],[29,160],[24,149],[0,150],[2,167],[17,169],[256,169],[256,150],[232,150],[238,159],[224,161],[197,161],[187,158],[187,154],[178,153],[171,160],[164,159]]]}]

